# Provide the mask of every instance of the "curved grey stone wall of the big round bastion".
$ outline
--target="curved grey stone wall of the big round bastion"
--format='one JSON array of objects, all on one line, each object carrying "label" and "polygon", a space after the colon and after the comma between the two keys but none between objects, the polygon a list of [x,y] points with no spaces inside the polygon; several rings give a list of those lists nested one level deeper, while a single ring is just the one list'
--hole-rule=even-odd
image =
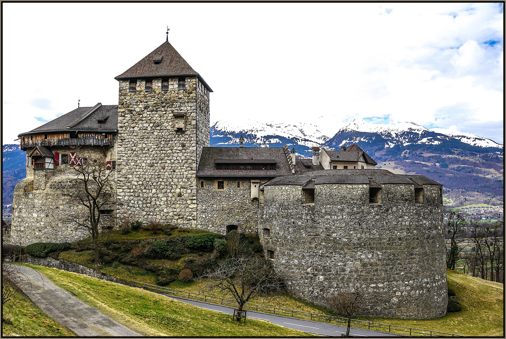
[{"label": "curved grey stone wall of the big round bastion", "polygon": [[301,205],[300,186],[266,186],[259,235],[293,295],[325,306],[357,289],[370,316],[438,318],[448,302],[443,206],[439,186],[424,191],[415,204],[413,185],[384,184],[382,204],[369,205],[368,185],[315,185],[313,206]]}]

